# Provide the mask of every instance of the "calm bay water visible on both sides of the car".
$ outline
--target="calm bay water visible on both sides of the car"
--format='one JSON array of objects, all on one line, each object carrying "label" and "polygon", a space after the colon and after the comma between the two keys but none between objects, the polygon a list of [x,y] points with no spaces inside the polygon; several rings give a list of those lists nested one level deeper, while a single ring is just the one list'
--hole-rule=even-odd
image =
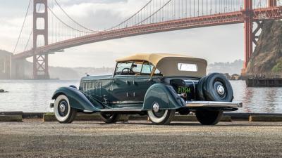
[{"label": "calm bay water visible on both sides of the car", "polygon": [[[0,112],[51,112],[51,96],[60,86],[79,85],[79,79],[0,80]],[[243,102],[238,112],[282,113],[282,88],[247,88],[245,81],[231,81],[235,101]]]}]

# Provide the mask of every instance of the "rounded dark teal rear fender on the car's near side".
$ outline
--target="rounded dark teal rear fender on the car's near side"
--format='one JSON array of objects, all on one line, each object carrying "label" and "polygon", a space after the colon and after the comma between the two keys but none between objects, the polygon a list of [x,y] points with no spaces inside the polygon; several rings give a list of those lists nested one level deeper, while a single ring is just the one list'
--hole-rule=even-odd
[{"label": "rounded dark teal rear fender on the car's near side", "polygon": [[178,96],[172,86],[160,83],[148,88],[142,110],[152,110],[154,102],[157,102],[162,110],[173,110],[185,106],[185,101]]}]

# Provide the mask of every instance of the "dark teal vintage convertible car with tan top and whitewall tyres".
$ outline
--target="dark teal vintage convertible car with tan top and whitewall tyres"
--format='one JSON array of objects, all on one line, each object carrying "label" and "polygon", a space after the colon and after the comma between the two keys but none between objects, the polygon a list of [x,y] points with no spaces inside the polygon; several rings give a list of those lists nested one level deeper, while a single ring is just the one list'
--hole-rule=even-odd
[{"label": "dark teal vintage convertible car with tan top and whitewall tyres", "polygon": [[223,111],[238,110],[223,74],[206,76],[207,61],[186,55],[140,53],[116,60],[114,74],[83,77],[79,88],[61,87],[52,97],[60,123],[77,112],[99,112],[106,123],[121,114],[140,114],[153,124],[169,124],[176,112],[195,115],[204,125],[219,122]]}]

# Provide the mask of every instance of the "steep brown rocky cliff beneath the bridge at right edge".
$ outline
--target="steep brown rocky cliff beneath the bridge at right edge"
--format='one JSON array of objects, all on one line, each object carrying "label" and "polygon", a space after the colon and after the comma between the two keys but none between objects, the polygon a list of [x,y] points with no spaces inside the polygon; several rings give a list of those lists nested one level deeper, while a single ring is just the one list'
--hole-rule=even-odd
[{"label": "steep brown rocky cliff beneath the bridge at right edge", "polygon": [[282,21],[265,21],[246,74],[282,74]]}]

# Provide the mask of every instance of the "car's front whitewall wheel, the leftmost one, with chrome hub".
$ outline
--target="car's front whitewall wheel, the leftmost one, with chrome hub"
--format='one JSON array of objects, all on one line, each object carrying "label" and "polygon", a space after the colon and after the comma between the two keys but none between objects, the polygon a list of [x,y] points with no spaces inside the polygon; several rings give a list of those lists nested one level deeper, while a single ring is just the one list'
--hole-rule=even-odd
[{"label": "car's front whitewall wheel, the leftmost one, with chrome hub", "polygon": [[77,110],[71,107],[68,97],[60,95],[54,103],[54,114],[61,124],[70,124],[75,119]]}]

